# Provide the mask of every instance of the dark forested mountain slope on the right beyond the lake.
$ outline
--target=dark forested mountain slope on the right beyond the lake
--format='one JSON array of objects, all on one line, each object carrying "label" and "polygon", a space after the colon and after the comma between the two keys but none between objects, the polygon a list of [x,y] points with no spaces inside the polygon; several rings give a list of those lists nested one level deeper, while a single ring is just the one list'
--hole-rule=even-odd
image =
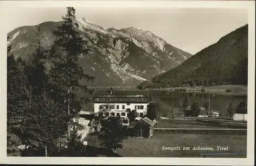
[{"label": "dark forested mountain slope on the right beyond the lake", "polygon": [[222,37],[178,67],[155,76],[160,87],[186,85],[246,85],[248,24]]}]

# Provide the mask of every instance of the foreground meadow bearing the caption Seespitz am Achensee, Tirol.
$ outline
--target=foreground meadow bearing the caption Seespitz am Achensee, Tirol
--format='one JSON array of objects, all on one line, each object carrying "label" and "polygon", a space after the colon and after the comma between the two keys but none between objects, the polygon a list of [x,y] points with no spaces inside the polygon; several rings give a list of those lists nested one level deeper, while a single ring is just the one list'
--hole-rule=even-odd
[{"label": "foreground meadow bearing the caption Seespitz am Achensee, Tirol", "polygon": [[[88,135],[87,140],[88,145],[100,147],[97,135]],[[206,154],[206,157],[244,158],[246,157],[246,141],[246,135],[165,133],[161,137],[160,134],[154,134],[150,139],[129,137],[123,141],[123,148],[117,149],[117,153],[122,157],[204,157],[203,153],[212,153],[217,155]],[[162,150],[163,146],[164,148],[173,147],[175,150]],[[212,147],[214,150],[192,150],[194,146]],[[217,146],[228,147],[228,149],[220,151],[217,150]],[[190,149],[183,150],[183,147]],[[99,154],[98,156],[106,155]]]}]

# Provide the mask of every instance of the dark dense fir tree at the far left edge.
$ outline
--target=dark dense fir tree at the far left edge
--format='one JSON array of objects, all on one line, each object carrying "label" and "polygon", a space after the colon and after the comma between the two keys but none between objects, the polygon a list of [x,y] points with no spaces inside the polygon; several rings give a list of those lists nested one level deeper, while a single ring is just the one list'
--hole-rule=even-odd
[{"label": "dark dense fir tree at the far left edge", "polygon": [[25,63],[21,58],[15,60],[11,54],[7,57],[8,143],[13,143],[12,139],[18,137],[19,143],[25,144],[31,103],[31,92],[28,89],[28,81],[25,74]]}]

